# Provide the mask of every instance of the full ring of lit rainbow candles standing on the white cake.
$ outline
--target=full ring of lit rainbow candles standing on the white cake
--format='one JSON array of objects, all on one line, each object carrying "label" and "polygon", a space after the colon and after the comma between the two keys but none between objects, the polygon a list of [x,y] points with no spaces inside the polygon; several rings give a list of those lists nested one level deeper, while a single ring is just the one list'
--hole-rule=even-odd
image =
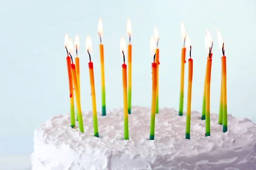
[{"label": "full ring of lit rainbow candles standing on the white cake", "polygon": [[[100,65],[101,65],[101,82],[102,82],[102,116],[106,116],[106,103],[105,103],[105,74],[104,74],[104,48],[102,45],[102,19],[99,19],[98,24],[98,34],[100,38],[99,54],[100,54]],[[120,52],[123,57],[122,64],[122,84],[123,84],[123,105],[124,105],[124,139],[129,139],[129,128],[128,128],[128,114],[131,114],[131,20],[128,18],[127,21],[127,34],[129,37],[128,44],[128,83],[127,83],[127,65],[125,64],[126,56],[126,43],[125,39],[122,38],[120,42]],[[222,69],[221,69],[221,97],[220,97],[220,108],[219,108],[219,118],[218,123],[223,125],[223,132],[227,131],[227,85],[226,85],[226,56],[224,55],[224,42],[222,40],[221,34],[217,30],[218,43],[222,50],[223,56],[221,57]],[[181,50],[181,71],[180,71],[180,106],[179,106],[179,116],[183,116],[183,91],[184,91],[184,67],[186,63],[186,48],[189,48],[189,59],[188,59],[188,90],[187,90],[187,109],[186,109],[186,133],[185,138],[190,139],[190,113],[191,113],[191,93],[192,93],[192,76],[193,76],[193,59],[191,58],[191,42],[186,34],[183,23],[181,23],[181,37],[183,41],[183,48]],[[154,56],[153,62],[151,63],[152,68],[152,99],[151,99],[151,119],[150,119],[150,133],[149,140],[154,140],[155,131],[155,114],[158,113],[158,67],[159,62],[159,34],[157,28],[154,27],[154,37],[151,36],[150,48],[151,55]],[[205,46],[207,51],[209,51],[207,57],[207,67],[204,80],[204,95],[203,95],[203,109],[201,119],[205,120],[206,133],[205,136],[210,136],[210,82],[211,82],[211,67],[212,67],[212,37],[207,30],[207,35],[205,36]],[[186,45],[186,46],[185,46]],[[76,48],[75,64],[73,63],[74,49]],[[84,125],[81,113],[81,103],[80,103],[80,75],[79,75],[79,57],[77,51],[79,49],[79,37],[76,35],[75,45],[68,35],[65,35],[65,48],[67,51],[67,73],[69,79],[69,91],[70,91],[70,124],[72,128],[75,127],[75,122],[79,122],[79,130],[84,132]],[[92,99],[92,113],[93,113],[93,131],[94,136],[99,137],[98,122],[97,122],[97,111],[96,111],[96,95],[95,95],[95,85],[94,85],[94,73],[93,73],[93,62],[91,62],[92,53],[92,42],[90,36],[86,38],[86,51],[89,55],[89,76],[90,76],[90,87],[91,87],[91,99]],[[128,85],[127,85],[128,84]],[[76,110],[77,116],[75,118],[75,106],[74,106],[74,94],[76,97]]]}]

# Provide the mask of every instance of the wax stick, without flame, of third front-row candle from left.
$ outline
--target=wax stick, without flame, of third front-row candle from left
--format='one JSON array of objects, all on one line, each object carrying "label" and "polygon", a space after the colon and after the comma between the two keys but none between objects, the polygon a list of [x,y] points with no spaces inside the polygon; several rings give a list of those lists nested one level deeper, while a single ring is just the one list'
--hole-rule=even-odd
[{"label": "wax stick, without flame, of third front-row candle from left", "polygon": [[93,63],[89,62],[88,66],[89,66],[90,87],[91,87],[91,97],[92,97],[92,109],[93,109],[93,131],[94,131],[94,136],[99,137]]}]

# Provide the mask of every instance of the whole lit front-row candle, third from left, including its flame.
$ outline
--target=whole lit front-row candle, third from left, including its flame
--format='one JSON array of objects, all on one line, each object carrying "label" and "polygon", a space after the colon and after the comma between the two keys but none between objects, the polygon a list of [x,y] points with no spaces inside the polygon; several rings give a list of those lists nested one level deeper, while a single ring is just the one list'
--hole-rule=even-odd
[{"label": "whole lit front-row candle, third from left, including its flame", "polygon": [[93,131],[94,131],[94,136],[99,137],[97,109],[96,109],[96,95],[95,95],[95,86],[94,86],[93,62],[91,62],[91,56],[90,56],[90,54],[92,54],[92,41],[91,41],[91,38],[89,35],[87,35],[85,46],[86,46],[86,51],[88,52],[89,59],[90,59],[90,62],[88,63],[88,67],[89,67],[89,76],[90,76],[92,108],[93,108]]}]

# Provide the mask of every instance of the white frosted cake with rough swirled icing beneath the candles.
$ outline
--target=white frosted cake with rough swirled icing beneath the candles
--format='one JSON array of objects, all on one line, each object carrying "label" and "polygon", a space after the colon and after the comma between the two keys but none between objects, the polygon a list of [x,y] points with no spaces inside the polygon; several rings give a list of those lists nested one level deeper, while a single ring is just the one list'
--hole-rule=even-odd
[{"label": "white frosted cake with rough swirled icing beneath the candles", "polygon": [[[52,116],[34,132],[32,170],[255,170],[256,125],[228,115],[222,132],[211,113],[211,136],[205,121],[191,112],[190,139],[185,139],[186,113],[172,108],[156,114],[155,140],[148,140],[150,108],[133,107],[129,140],[123,140],[123,109],[98,114],[99,138],[93,136],[92,112],[83,113],[84,133],[70,127],[70,114]],[[78,122],[76,122],[78,127]]]}]

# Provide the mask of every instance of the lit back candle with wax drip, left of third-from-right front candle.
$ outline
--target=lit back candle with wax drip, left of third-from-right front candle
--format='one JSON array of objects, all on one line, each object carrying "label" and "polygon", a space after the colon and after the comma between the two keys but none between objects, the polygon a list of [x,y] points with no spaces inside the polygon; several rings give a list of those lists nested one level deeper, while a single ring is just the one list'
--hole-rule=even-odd
[{"label": "lit back candle with wax drip, left of third-from-right front candle", "polygon": [[185,41],[186,41],[186,30],[181,23],[181,38],[183,43],[183,48],[181,49],[181,62],[180,62],[180,107],[179,107],[179,116],[183,115],[183,98],[184,98],[184,67],[186,63],[186,47],[185,47]]}]

